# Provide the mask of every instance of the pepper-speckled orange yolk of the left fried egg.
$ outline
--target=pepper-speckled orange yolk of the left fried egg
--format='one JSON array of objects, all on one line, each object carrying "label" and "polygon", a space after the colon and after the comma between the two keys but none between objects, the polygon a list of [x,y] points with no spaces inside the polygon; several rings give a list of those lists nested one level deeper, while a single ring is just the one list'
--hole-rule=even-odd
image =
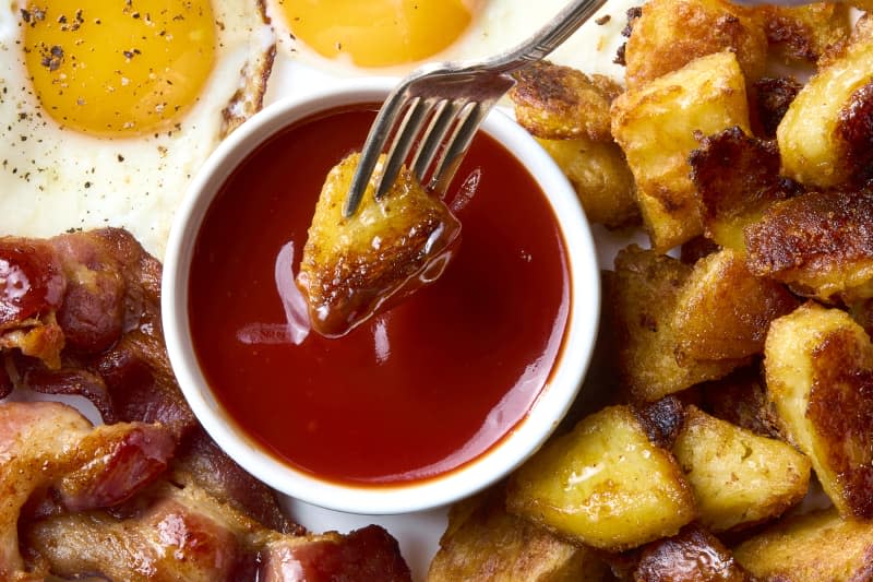
[{"label": "pepper-speckled orange yolk of the left fried egg", "polygon": [[44,109],[98,135],[163,130],[196,100],[215,60],[208,0],[43,0],[21,10]]}]

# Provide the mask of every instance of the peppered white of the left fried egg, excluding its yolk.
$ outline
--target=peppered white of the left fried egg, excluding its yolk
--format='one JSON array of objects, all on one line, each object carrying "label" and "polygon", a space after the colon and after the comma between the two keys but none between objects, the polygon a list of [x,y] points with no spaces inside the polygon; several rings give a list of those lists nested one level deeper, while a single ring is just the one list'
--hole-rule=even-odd
[{"label": "peppered white of the left fried egg, excluding its yolk", "polygon": [[163,257],[189,180],[223,133],[260,108],[273,59],[275,37],[256,2],[213,4],[215,68],[198,102],[179,129],[123,139],[62,129],[41,110],[24,66],[21,7],[0,5],[0,233],[120,226]]}]

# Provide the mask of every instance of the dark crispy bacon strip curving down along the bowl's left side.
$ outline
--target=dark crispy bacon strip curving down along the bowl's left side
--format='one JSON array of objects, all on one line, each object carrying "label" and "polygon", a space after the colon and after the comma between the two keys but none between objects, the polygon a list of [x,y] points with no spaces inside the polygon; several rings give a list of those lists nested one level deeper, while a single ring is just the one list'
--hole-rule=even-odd
[{"label": "dark crispy bacon strip curving down along the bowl's left side", "polygon": [[[44,359],[14,353],[11,361],[19,385],[85,396],[107,424],[160,423],[182,447],[174,461],[177,479],[203,485],[267,527],[302,533],[285,516],[275,494],[199,428],[164,345],[157,260],[130,234],[116,228],[61,235],[49,244],[7,241],[41,249],[31,269],[62,273],[67,292],[55,304],[67,337],[60,365],[52,368]],[[0,391],[2,387],[0,381]]]}]

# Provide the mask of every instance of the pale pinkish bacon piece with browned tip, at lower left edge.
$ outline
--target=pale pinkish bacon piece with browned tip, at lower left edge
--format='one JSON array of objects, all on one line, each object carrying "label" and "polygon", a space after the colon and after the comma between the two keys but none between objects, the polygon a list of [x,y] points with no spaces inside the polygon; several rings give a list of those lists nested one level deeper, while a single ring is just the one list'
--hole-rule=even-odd
[{"label": "pale pinkish bacon piece with browned tip, at lower left edge", "polygon": [[64,404],[0,403],[0,579],[25,574],[16,527],[32,496],[71,510],[122,502],[165,472],[174,448],[159,426],[94,428]]}]

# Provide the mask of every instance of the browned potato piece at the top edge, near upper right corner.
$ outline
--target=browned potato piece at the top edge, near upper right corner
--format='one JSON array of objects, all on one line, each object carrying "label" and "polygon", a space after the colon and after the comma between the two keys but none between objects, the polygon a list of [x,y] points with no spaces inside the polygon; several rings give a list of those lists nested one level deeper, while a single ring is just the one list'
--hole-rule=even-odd
[{"label": "browned potato piece at the top edge, near upper right corner", "polygon": [[764,5],[755,10],[764,21],[770,47],[789,63],[815,62],[851,33],[849,10],[842,3]]}]

